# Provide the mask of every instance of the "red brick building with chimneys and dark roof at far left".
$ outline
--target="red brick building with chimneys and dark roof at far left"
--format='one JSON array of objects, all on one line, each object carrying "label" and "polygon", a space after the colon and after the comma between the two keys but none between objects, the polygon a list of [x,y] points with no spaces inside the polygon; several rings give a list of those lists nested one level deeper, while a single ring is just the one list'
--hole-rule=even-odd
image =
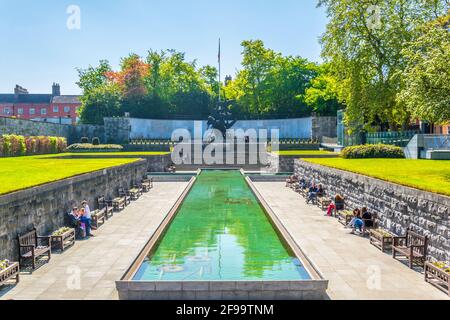
[{"label": "red brick building with chimneys and dark roof at far left", "polygon": [[80,96],[61,95],[54,83],[51,94],[30,94],[16,85],[14,94],[0,94],[0,116],[55,123],[76,123]]}]

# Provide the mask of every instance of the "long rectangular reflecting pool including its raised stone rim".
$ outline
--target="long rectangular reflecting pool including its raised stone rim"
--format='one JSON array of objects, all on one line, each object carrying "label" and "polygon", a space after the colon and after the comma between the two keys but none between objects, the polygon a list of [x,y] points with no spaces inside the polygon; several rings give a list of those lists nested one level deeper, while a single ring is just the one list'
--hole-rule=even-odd
[{"label": "long rectangular reflecting pool including its raised stone rim", "polygon": [[116,281],[122,300],[315,300],[327,287],[237,170],[199,171]]}]

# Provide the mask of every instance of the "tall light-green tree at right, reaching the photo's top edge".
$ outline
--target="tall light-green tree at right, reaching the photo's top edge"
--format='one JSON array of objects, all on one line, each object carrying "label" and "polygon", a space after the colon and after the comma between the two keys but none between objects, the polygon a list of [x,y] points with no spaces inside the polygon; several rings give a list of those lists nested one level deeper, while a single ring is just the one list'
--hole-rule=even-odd
[{"label": "tall light-green tree at right, reaching the photo's top edge", "polygon": [[445,10],[445,0],[320,0],[329,23],[321,41],[323,57],[336,78],[352,128],[409,121],[397,99],[406,61],[402,51],[417,26]]}]

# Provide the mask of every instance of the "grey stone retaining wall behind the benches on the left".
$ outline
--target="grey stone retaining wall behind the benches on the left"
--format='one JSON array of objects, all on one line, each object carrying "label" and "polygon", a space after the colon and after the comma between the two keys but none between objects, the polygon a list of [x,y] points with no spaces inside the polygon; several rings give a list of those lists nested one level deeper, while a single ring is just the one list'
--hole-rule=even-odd
[{"label": "grey stone retaining wall behind the benches on the left", "polygon": [[17,235],[36,227],[48,235],[64,226],[66,215],[82,200],[96,208],[100,195],[113,197],[145,176],[145,161],[126,164],[0,196],[0,259],[17,260]]}]

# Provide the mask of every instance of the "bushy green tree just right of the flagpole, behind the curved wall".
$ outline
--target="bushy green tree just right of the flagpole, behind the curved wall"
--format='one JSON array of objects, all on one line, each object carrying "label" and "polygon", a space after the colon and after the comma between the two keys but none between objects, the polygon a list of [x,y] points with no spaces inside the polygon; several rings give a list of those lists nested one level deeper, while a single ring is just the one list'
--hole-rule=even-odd
[{"label": "bushy green tree just right of the flagpole, behind the curved wall", "polygon": [[311,108],[297,97],[316,75],[301,57],[283,57],[261,40],[242,42],[243,62],[236,78],[225,86],[232,110],[247,116],[307,116]]}]

